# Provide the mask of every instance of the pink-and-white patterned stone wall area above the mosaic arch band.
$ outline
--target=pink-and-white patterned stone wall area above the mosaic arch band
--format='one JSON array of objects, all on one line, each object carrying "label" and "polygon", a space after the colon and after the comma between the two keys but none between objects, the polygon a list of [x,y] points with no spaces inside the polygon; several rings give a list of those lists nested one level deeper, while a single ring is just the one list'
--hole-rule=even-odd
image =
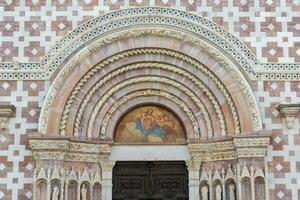
[{"label": "pink-and-white patterned stone wall area above the mosaic arch band", "polygon": [[299,0],[0,0],[0,62],[40,61],[82,22],[137,6],[173,7],[212,20],[260,62],[300,62]]}]

